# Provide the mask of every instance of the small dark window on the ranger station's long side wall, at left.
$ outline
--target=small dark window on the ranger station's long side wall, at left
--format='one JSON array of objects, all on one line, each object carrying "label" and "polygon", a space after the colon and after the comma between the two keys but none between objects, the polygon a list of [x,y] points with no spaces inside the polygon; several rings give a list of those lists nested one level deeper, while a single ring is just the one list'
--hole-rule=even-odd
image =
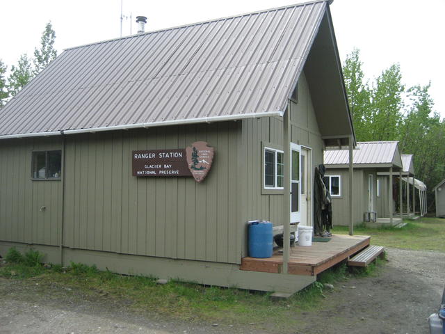
[{"label": "small dark window on the ranger station's long side wall, at left", "polygon": [[33,152],[32,174],[34,180],[60,180],[62,151]]}]

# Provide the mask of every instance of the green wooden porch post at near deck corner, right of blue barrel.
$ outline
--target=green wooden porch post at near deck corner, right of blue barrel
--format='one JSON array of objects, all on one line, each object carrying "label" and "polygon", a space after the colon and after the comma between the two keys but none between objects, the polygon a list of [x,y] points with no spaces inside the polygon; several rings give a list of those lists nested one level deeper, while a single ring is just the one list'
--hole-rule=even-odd
[{"label": "green wooden porch post at near deck corner, right of blue barrel", "polygon": [[289,253],[291,250],[291,132],[290,105],[283,115],[283,150],[284,150],[284,194],[283,194],[283,270],[282,273],[288,273]]}]

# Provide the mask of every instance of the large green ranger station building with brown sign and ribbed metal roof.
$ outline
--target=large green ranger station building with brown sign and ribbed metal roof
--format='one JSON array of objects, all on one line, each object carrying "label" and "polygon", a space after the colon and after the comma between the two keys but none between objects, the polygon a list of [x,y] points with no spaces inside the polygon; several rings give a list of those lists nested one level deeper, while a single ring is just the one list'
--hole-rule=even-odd
[{"label": "large green ranger station building with brown sign and ribbed metal roof", "polygon": [[0,140],[2,254],[295,292],[316,277],[239,264],[248,221],[312,224],[323,149],[355,145],[329,1],[67,49]]}]

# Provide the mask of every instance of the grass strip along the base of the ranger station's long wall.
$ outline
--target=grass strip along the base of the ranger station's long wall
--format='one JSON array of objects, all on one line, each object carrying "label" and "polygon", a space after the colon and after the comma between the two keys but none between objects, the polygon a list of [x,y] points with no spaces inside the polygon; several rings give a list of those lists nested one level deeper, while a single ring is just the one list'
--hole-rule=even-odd
[{"label": "grass strip along the base of the ranger station's long wall", "polygon": [[[41,293],[51,294],[54,287],[72,291],[83,299],[106,300],[126,305],[134,312],[156,313],[163,317],[186,321],[208,321],[218,324],[248,325],[255,328],[289,331],[301,324],[304,317],[296,314],[316,310],[329,294],[325,284],[338,285],[351,276],[345,264],[337,265],[318,275],[318,280],[285,301],[272,301],[269,293],[209,287],[195,283],[170,281],[156,284],[156,279],[144,276],[124,276],[111,271],[99,271],[95,266],[71,262],[69,267],[43,266],[40,253],[29,253],[33,261],[11,250],[7,264],[0,265],[0,276],[10,279],[30,279],[39,283]],[[32,256],[31,256],[32,255]],[[15,260],[15,262],[13,262]],[[44,290],[46,287],[47,290]]]}]

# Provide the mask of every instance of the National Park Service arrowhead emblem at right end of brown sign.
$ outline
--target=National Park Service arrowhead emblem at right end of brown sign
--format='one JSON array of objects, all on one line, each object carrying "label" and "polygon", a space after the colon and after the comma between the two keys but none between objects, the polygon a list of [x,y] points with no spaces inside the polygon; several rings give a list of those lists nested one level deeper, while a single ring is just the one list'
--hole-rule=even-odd
[{"label": "National Park Service arrowhead emblem at right end of brown sign", "polygon": [[202,182],[209,173],[215,150],[205,141],[195,141],[186,152],[188,169],[196,182]]}]

